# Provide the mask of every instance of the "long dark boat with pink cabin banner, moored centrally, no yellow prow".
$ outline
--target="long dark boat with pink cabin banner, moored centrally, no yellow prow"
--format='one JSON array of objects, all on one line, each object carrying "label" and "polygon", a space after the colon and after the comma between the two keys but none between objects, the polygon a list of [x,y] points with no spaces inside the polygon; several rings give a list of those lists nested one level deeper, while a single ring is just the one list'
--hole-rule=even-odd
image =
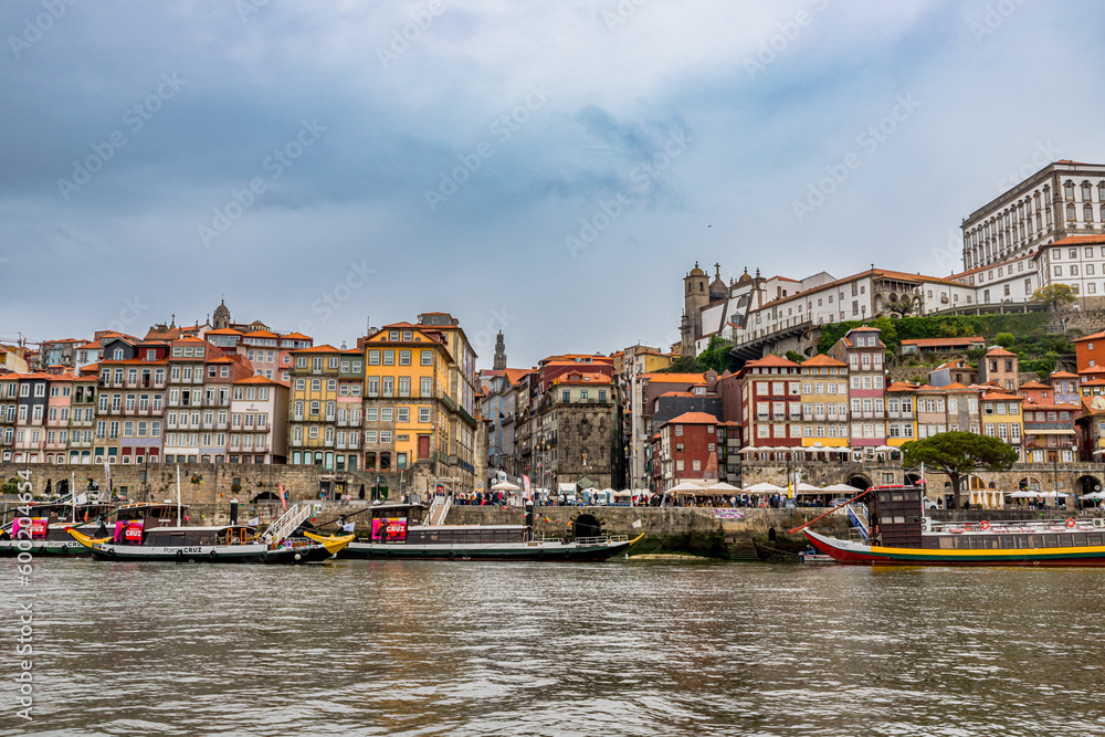
[{"label": "long dark boat with pink cabin banner, moored centrally, no yellow prow", "polygon": [[526,525],[431,525],[421,504],[383,504],[371,512],[369,536],[350,543],[339,558],[596,561],[625,552],[644,537],[538,539],[532,512]]}]

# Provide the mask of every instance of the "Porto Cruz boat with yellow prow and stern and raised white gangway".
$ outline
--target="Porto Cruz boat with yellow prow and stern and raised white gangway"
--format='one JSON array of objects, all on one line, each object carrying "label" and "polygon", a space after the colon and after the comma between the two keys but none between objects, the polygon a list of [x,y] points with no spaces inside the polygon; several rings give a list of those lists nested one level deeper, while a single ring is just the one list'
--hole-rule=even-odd
[{"label": "Porto Cruz boat with yellow prow and stern and raised white gangway", "polygon": [[294,530],[305,518],[304,512],[309,515],[309,507],[293,506],[263,535],[246,525],[146,529],[136,524],[117,526],[108,538],[93,538],[74,528],[69,534],[88,548],[93,557],[120,562],[320,562],[333,558],[354,539],[352,535],[296,535]]}]

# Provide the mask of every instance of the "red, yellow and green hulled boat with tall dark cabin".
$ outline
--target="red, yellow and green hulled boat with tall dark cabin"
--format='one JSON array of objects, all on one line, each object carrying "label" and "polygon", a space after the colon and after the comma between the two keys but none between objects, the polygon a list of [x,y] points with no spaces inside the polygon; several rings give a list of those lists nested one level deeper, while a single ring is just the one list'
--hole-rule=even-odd
[{"label": "red, yellow and green hulled boat with tall dark cabin", "polygon": [[[863,496],[867,497],[867,514],[856,513],[854,509],[852,512],[853,522],[859,519],[856,527],[861,539],[842,540],[810,529],[803,530],[820,552],[838,562],[895,566],[1105,566],[1105,520],[1099,517],[939,523],[924,516],[924,491],[920,487],[878,486],[854,497],[850,504],[854,505]],[[841,505],[836,509],[848,505]],[[824,516],[827,515],[822,515]],[[810,524],[813,522],[817,519]],[[804,527],[790,531],[793,534]]]}]

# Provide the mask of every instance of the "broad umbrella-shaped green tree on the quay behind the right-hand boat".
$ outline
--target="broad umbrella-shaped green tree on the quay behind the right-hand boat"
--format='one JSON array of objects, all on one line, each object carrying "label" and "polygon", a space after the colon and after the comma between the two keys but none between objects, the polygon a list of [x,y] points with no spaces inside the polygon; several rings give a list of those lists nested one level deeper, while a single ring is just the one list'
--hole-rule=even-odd
[{"label": "broad umbrella-shaped green tree on the quay behind the right-hand boat", "polygon": [[1020,455],[1017,449],[997,438],[972,432],[941,432],[902,446],[902,465],[919,466],[943,473],[951,482],[958,508],[960,485],[972,471],[1008,471]]}]

